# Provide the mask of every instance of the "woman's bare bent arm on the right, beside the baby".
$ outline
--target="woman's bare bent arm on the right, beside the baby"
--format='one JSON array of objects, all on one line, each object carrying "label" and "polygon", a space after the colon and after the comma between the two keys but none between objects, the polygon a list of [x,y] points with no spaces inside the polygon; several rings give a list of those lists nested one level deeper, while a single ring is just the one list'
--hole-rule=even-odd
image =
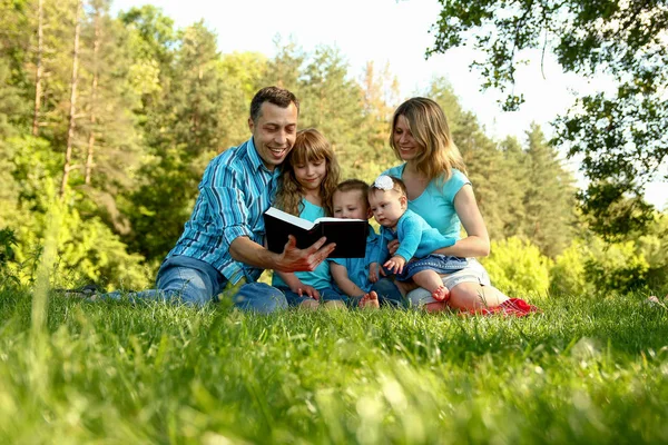
[{"label": "woman's bare bent arm on the right, beside the baby", "polygon": [[454,257],[487,257],[490,255],[490,236],[470,185],[464,185],[454,196],[454,209],[468,236],[456,241],[454,246],[435,250],[434,254]]}]

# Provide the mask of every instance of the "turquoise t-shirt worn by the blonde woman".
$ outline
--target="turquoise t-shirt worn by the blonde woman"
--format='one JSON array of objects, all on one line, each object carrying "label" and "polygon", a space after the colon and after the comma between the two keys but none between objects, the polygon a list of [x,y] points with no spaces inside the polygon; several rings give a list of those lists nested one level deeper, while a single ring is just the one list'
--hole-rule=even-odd
[{"label": "turquoise t-shirt worn by the blonde woman", "polygon": [[[403,179],[405,164],[383,171],[383,175]],[[454,196],[461,188],[471,184],[469,178],[456,168],[444,184],[438,179],[429,182],[422,195],[409,200],[409,209],[420,215],[433,228],[446,237],[460,239],[461,221],[454,209]]]}]

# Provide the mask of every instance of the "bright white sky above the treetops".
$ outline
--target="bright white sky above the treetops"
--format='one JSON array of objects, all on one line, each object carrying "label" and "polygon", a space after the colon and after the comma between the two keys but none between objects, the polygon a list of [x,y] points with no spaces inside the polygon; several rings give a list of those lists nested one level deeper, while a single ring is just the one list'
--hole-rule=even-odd
[{"label": "bright white sky above the treetops", "polygon": [[[403,98],[425,90],[434,77],[445,77],[462,107],[475,113],[488,136],[498,139],[510,135],[523,141],[531,122],[551,136],[549,122],[566,112],[577,95],[600,87],[563,73],[549,55],[541,68],[538,51],[528,52],[529,63],[518,70],[515,87],[525,102],[519,111],[502,111],[497,103],[502,95],[481,92],[481,78],[469,69],[475,57],[472,49],[458,48],[425,60],[434,40],[429,31],[439,17],[438,0],[114,0],[112,12],[147,3],[160,8],[177,27],[204,20],[217,33],[222,53],[256,51],[272,57],[276,37],[284,42],[292,39],[306,52],[318,44],[334,47],[356,79],[369,61],[377,69],[389,63]],[[567,165],[582,186],[577,161]],[[668,208],[668,184],[651,184],[646,199]]]}]

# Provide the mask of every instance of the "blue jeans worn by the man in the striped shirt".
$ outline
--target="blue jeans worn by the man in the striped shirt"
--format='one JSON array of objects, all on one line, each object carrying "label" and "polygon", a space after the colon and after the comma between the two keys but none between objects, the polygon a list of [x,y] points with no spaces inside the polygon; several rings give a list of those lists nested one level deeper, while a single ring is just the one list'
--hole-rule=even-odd
[{"label": "blue jeans worn by the man in the striped shirt", "polygon": [[[218,294],[229,288],[228,280],[208,263],[176,256],[167,259],[158,270],[157,289],[131,293],[130,298],[141,300],[180,301],[186,305],[204,306],[217,301]],[[120,298],[119,291],[105,294],[107,298]],[[287,308],[281,290],[264,283],[242,285],[232,295],[235,307],[269,314]]]}]

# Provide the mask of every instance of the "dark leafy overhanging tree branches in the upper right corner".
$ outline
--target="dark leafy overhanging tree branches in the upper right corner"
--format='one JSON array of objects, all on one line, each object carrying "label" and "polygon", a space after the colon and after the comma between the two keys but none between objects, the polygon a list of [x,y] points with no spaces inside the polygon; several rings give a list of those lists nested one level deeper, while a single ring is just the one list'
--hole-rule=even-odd
[{"label": "dark leafy overhanging tree branches in the upper right corner", "polygon": [[[590,185],[580,194],[582,209],[607,218],[597,227],[611,236],[641,226],[651,206],[642,201],[645,185],[668,172],[668,29],[666,0],[443,0],[434,24],[435,42],[426,53],[472,42],[482,60],[473,62],[485,78],[483,89],[510,95],[504,109],[523,101],[514,92],[522,51],[550,50],[566,71],[589,78],[608,76],[617,90],[578,98],[556,120],[554,142],[568,156],[582,157]],[[518,86],[520,88],[521,86]],[[627,206],[615,215],[608,207]]]}]

